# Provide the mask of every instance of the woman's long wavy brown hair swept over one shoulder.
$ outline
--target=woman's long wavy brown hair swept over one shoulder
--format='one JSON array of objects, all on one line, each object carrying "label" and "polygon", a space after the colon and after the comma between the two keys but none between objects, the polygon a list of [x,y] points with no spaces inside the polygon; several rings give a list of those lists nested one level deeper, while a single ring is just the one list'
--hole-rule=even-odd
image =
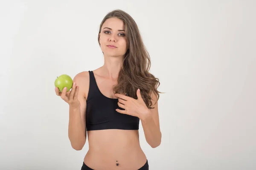
[{"label": "woman's long wavy brown hair swept over one shoulder", "polygon": [[[125,94],[137,99],[137,89],[140,88],[141,96],[148,108],[152,108],[151,93],[157,95],[157,88],[160,85],[159,79],[149,73],[151,67],[150,56],[145,48],[140,31],[134,19],[122,10],[109,12],[100,24],[99,33],[103,23],[111,18],[116,17],[124,22],[125,35],[128,43],[128,50],[125,53],[122,69],[119,71],[117,85],[113,88],[114,94]],[[99,42],[99,36],[98,36]],[[100,43],[99,43],[100,45]]]}]

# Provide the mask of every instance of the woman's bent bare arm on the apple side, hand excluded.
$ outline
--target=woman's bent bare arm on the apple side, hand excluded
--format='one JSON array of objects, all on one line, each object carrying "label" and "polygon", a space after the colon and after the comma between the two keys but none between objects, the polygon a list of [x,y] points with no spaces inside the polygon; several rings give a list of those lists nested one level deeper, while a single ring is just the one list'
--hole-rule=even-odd
[{"label": "woman's bent bare arm on the apple side, hand excluded", "polygon": [[[80,78],[79,78],[80,77]],[[73,82],[79,86],[78,100],[80,105],[77,107],[69,106],[69,125],[68,137],[71,146],[75,150],[81,150],[86,142],[86,100],[84,96],[84,81],[82,75],[77,74]]]}]

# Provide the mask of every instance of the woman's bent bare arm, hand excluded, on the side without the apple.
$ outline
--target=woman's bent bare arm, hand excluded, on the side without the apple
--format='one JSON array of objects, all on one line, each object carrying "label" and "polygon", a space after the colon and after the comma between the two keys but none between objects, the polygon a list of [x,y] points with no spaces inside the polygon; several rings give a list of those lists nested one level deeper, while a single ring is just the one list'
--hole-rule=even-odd
[{"label": "woman's bent bare arm, hand excluded, on the side without the apple", "polygon": [[147,143],[155,148],[161,143],[162,133],[160,131],[157,96],[152,94],[151,97],[153,109],[148,109],[148,113],[143,114],[140,120]]}]

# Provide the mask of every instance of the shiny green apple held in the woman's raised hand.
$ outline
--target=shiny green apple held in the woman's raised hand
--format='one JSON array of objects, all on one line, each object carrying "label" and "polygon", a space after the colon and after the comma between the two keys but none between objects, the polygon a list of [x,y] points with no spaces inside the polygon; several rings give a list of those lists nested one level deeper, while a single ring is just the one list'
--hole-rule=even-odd
[{"label": "shiny green apple held in the woman's raised hand", "polygon": [[63,88],[67,88],[67,92],[70,91],[73,85],[73,79],[67,75],[62,74],[61,76],[57,77],[57,79],[54,82],[55,87],[59,89],[60,92],[63,91]]}]

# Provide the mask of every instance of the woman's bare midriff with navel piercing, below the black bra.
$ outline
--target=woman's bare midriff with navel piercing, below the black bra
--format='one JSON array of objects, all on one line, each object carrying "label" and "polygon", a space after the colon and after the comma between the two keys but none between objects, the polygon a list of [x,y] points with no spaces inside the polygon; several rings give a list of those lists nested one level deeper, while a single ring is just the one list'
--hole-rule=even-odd
[{"label": "woman's bare midriff with navel piercing, below the black bra", "polygon": [[140,147],[138,130],[89,131],[88,143],[84,162],[92,167],[118,169],[116,163],[119,163],[134,169],[145,164],[146,156]]}]

